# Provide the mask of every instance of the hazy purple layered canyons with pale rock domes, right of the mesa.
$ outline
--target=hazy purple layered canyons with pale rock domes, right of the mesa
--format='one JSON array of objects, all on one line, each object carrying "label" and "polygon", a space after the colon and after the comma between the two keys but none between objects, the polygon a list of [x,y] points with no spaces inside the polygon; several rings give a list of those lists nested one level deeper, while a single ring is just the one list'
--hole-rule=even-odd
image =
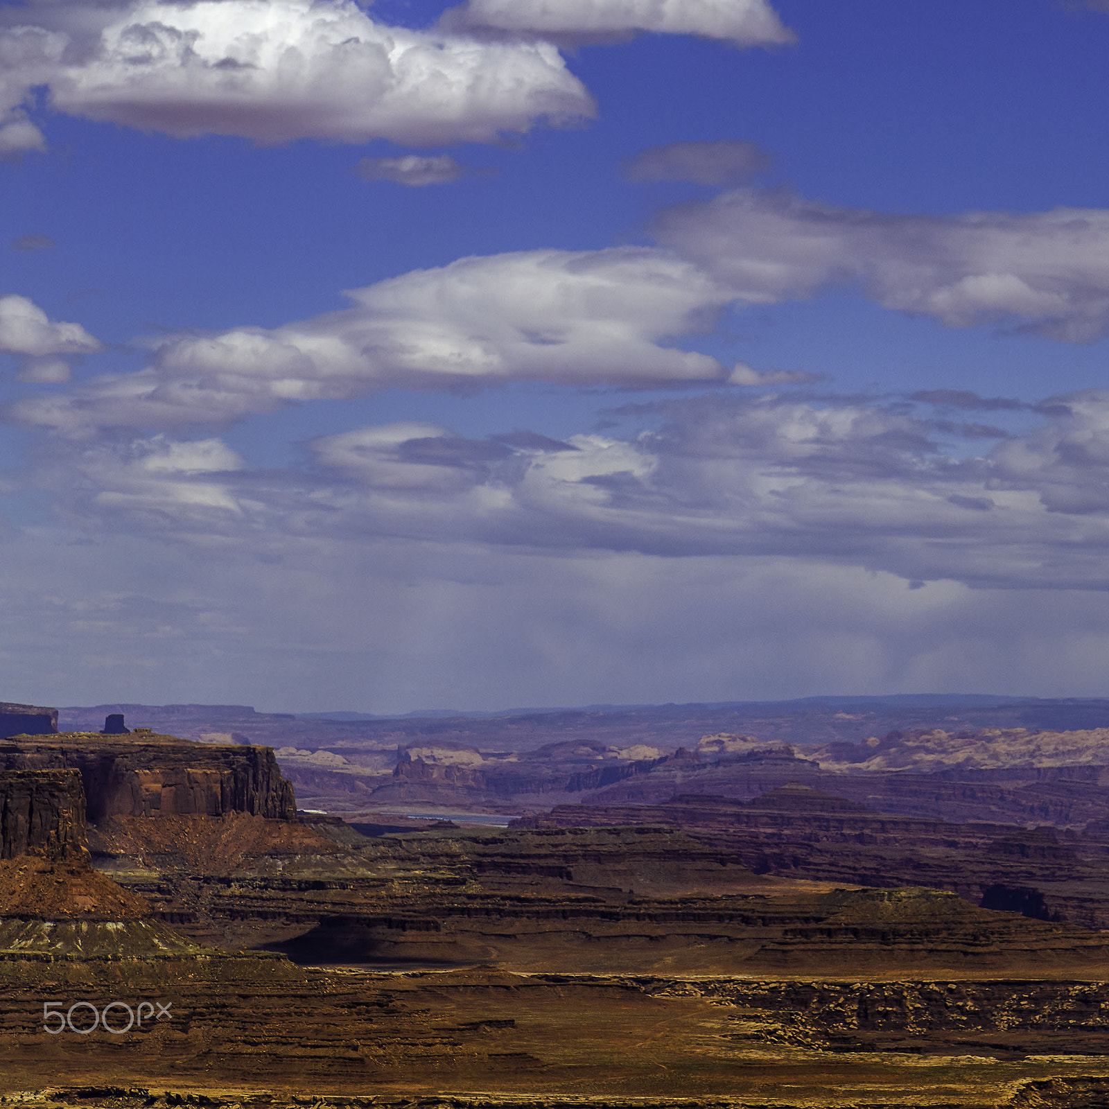
[{"label": "hazy purple layered canyons with pale rock domes, right of the mesa", "polygon": [[[513,753],[446,743],[413,746],[399,751],[389,777],[383,777],[378,756],[373,767],[330,752],[287,757],[305,795],[317,798],[312,807],[334,803],[518,815],[564,803],[658,804],[681,793],[745,801],[796,781],[899,815],[1066,827],[1109,821],[1109,754],[1090,739],[1096,734],[1062,733],[1050,756],[1039,760],[1029,753],[1035,750],[1029,736],[1009,747],[1003,736],[989,749],[989,759],[980,753],[984,742],[958,741],[956,753],[963,752],[959,744],[979,751],[978,765],[928,762],[917,757],[915,745],[897,770],[889,762],[901,755],[899,746],[883,749],[881,757],[867,762],[872,749],[864,745],[802,756],[784,744],[736,735],[704,736],[695,749],[662,754],[645,745],[614,749],[584,740]],[[859,761],[848,761],[841,750],[847,747]],[[638,754],[651,751],[657,756]],[[1068,752],[1076,762],[1065,761]],[[822,764],[816,754],[832,761]],[[327,769],[325,756],[342,765]]]}]

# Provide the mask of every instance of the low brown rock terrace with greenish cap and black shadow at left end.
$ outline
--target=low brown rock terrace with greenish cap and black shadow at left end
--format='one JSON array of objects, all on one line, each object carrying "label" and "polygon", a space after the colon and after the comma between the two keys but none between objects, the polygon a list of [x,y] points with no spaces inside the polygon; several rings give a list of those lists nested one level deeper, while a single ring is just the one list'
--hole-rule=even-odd
[{"label": "low brown rock terrace with greenish cap and black shadow at left end", "polygon": [[311,963],[494,963],[515,970],[966,977],[1014,966],[1109,974],[1105,939],[1065,925],[977,909],[954,894],[881,891],[820,894],[766,887],[730,897],[390,899],[340,914],[279,949]]}]

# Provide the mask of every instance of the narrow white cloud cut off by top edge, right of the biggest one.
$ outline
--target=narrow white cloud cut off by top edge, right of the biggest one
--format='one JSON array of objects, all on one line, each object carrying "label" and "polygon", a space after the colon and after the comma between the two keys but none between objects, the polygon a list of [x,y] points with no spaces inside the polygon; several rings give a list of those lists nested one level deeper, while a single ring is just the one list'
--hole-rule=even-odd
[{"label": "narrow white cloud cut off by top edge, right of the biggest one", "polygon": [[444,26],[577,42],[637,31],[696,34],[739,47],[794,41],[766,0],[467,0],[446,13]]}]

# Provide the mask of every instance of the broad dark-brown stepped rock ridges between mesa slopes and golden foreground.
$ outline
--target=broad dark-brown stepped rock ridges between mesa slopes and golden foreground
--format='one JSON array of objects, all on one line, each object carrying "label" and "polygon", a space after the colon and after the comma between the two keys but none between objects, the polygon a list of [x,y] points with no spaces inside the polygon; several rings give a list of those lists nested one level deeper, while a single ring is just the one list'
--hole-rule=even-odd
[{"label": "broad dark-brown stepped rock ridges between mesa slopes and golden foreground", "polygon": [[308,963],[1109,971],[1105,938],[1085,929],[987,912],[952,894],[897,901],[896,891],[844,894],[759,877],[673,828],[389,836],[330,855],[244,861],[232,873],[128,869],[125,858],[105,865],[197,939],[284,945]]}]

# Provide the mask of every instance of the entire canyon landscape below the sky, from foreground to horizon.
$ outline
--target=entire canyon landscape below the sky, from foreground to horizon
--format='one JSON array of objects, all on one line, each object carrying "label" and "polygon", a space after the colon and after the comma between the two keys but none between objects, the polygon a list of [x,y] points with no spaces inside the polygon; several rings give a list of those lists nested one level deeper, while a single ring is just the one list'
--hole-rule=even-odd
[{"label": "entire canyon landscape below the sky, from foreground to horizon", "polygon": [[1109,729],[775,710],[4,705],[0,1097],[1109,1103]]}]

